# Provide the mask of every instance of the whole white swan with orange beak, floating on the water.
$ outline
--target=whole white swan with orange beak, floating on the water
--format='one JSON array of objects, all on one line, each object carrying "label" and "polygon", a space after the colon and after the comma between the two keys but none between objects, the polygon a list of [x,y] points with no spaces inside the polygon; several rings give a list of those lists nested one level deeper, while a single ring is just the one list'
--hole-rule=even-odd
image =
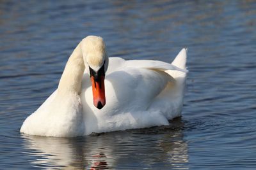
[{"label": "whole white swan with orange beak, floating on the water", "polygon": [[70,55],[58,88],[20,132],[76,137],[168,125],[181,114],[187,73],[184,48],[172,64],[124,60],[108,57],[101,37],[87,36]]}]

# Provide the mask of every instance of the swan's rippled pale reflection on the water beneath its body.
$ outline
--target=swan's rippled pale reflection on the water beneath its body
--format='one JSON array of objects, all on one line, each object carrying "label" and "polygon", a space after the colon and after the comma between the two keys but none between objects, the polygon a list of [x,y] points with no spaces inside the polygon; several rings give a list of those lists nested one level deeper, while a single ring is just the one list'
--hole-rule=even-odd
[{"label": "swan's rippled pale reflection on the water beneath its body", "polygon": [[81,138],[23,135],[31,166],[52,169],[188,169],[188,144],[180,118],[170,126]]}]

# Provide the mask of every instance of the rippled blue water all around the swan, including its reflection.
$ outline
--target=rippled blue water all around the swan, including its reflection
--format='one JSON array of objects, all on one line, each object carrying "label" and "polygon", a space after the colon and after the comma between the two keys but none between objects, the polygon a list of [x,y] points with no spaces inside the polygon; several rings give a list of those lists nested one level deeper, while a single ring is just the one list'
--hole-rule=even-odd
[{"label": "rippled blue water all around the swan, including its reflection", "polygon": [[[254,169],[256,1],[0,1],[0,169]],[[182,117],[81,138],[19,132],[90,34],[111,56],[170,62],[186,46]]]}]

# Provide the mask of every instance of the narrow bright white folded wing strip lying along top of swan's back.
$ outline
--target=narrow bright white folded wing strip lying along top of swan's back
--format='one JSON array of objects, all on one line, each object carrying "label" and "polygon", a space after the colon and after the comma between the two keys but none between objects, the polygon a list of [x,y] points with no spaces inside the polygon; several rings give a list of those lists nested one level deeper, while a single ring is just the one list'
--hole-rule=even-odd
[{"label": "narrow bright white folded wing strip lying along top of swan's back", "polygon": [[181,69],[177,66],[173,66],[167,62],[159,61],[159,60],[127,60],[125,62],[126,67],[136,67],[136,68],[144,68],[144,69],[158,69],[158,70],[176,70],[187,73],[188,70]]}]

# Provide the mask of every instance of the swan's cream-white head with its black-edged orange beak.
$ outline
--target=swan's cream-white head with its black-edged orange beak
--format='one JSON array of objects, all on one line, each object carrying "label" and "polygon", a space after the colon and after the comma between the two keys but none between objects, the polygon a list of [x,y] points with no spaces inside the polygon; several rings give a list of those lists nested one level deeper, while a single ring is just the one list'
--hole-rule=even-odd
[{"label": "swan's cream-white head with its black-edged orange beak", "polygon": [[108,54],[103,39],[88,36],[81,41],[84,65],[92,81],[93,104],[98,109],[106,104],[104,78],[108,69]]}]

